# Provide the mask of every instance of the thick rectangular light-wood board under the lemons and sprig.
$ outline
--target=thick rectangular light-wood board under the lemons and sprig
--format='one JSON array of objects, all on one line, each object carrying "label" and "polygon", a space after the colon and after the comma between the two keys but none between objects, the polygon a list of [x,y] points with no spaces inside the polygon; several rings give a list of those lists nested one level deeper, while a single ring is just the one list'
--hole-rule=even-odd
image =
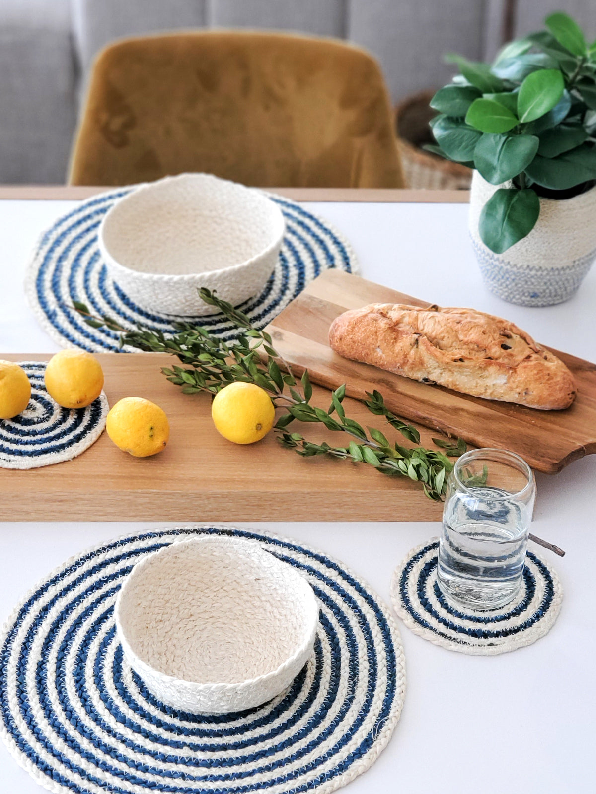
[{"label": "thick rectangular light-wood board under the lemons and sprig", "polygon": [[[6,355],[14,361],[49,356]],[[105,391],[153,400],[168,414],[171,435],[163,453],[134,458],[104,433],[72,461],[17,471],[0,468],[2,515],[10,521],[436,521],[443,505],[410,480],[387,477],[366,464],[303,458],[273,434],[239,446],[211,422],[209,395],[183,395],[161,374],[176,359],[154,353],[105,353]],[[313,402],[330,403],[315,387]],[[353,400],[346,410],[363,425],[371,414]],[[381,425],[379,425],[381,426]],[[337,434],[308,425],[313,441]],[[423,443],[431,433],[422,430]]]}]

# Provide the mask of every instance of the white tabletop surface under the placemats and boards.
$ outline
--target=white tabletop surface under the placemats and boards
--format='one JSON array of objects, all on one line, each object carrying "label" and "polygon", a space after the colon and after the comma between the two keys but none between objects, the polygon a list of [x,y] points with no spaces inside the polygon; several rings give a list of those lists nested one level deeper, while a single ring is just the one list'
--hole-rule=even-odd
[{"label": "white tabletop surface under the placemats and boards", "polygon": [[[75,202],[0,201],[0,353],[58,349],[26,306],[22,280],[37,236],[72,206]],[[545,344],[596,360],[596,268],[569,302],[527,309],[502,302],[482,285],[464,204],[304,206],[350,241],[362,276],[443,306],[500,314]],[[549,556],[565,590],[554,628],[513,653],[470,657],[433,646],[402,627],[408,688],[401,722],[378,761],[346,792],[596,791],[596,456],[537,480],[532,531],[567,551],[563,559]],[[37,580],[72,554],[148,526],[164,525],[0,523],[0,622]],[[386,602],[393,568],[412,546],[439,534],[438,523],[250,526],[298,538],[338,557]],[[0,745],[0,792],[41,790]]]}]

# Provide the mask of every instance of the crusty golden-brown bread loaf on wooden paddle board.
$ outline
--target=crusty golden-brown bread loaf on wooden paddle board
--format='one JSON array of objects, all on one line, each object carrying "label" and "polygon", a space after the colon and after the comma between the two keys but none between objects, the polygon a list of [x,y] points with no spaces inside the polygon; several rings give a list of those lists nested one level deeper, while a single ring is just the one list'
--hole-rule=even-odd
[{"label": "crusty golden-brown bread loaf on wooden paddle board", "polygon": [[565,364],[513,322],[474,309],[371,303],[340,314],[329,344],[344,358],[424,383],[530,408],[567,408]]}]

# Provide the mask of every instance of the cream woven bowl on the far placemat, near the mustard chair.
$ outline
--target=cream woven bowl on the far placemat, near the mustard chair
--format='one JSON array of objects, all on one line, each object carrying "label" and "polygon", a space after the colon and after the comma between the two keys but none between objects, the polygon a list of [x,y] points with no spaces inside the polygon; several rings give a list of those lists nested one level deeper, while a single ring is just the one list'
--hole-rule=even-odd
[{"label": "cream woven bowl on the far placemat, near the mustard chair", "polygon": [[200,287],[238,306],[271,276],[285,222],[254,188],[211,174],[180,174],[120,198],[99,226],[110,275],[141,309],[186,316],[216,314]]}]

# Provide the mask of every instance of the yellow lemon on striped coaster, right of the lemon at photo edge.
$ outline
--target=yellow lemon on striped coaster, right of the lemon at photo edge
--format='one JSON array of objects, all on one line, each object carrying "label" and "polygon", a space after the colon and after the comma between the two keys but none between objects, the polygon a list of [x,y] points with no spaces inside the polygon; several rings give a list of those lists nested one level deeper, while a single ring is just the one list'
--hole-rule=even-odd
[{"label": "yellow lemon on striped coaster, right of the lemon at photo edge", "polygon": [[45,368],[48,395],[63,408],[86,408],[103,389],[99,361],[84,350],[60,350]]}]

